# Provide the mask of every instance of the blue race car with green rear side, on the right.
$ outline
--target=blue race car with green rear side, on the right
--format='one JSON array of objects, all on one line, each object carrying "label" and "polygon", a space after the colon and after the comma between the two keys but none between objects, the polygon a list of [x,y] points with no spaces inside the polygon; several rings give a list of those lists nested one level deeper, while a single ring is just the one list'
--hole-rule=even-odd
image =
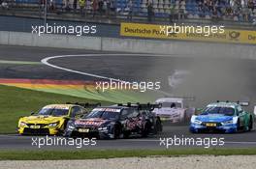
[{"label": "blue race car with green rear side, on the right", "polygon": [[233,133],[239,130],[251,130],[253,115],[242,109],[248,102],[215,102],[210,103],[200,115],[193,115],[190,121],[190,131],[220,131]]}]

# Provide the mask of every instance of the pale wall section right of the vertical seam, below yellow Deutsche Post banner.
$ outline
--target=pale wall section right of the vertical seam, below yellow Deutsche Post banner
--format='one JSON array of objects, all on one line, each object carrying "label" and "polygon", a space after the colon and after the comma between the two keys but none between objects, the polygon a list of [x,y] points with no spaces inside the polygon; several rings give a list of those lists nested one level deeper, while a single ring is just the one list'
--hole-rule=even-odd
[{"label": "pale wall section right of the vertical seam, below yellow Deutsche Post banner", "polygon": [[245,44],[152,41],[103,38],[102,50],[176,55],[176,57],[231,57],[256,59],[256,46]]}]

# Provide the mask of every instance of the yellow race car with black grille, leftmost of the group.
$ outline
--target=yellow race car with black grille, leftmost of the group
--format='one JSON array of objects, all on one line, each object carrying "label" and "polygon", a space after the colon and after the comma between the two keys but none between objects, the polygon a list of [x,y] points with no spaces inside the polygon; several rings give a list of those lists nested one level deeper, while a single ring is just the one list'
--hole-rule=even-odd
[{"label": "yellow race car with black grille, leftmost of the group", "polygon": [[23,135],[56,135],[62,134],[70,119],[87,113],[85,107],[97,106],[88,103],[50,104],[38,113],[21,117],[17,132]]}]

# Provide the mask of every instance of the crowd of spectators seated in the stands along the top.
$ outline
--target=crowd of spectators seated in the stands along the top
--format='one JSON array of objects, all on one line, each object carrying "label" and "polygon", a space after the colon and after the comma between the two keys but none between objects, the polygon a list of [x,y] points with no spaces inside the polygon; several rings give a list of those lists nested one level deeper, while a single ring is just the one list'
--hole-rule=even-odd
[{"label": "crowd of spectators seated in the stands along the top", "polygon": [[[183,18],[226,19],[255,22],[256,0],[47,0],[51,11],[80,12],[81,15],[134,15],[169,17],[170,21]],[[46,0],[16,0],[16,3],[39,2]],[[8,9],[8,0],[0,0],[0,8]]]}]

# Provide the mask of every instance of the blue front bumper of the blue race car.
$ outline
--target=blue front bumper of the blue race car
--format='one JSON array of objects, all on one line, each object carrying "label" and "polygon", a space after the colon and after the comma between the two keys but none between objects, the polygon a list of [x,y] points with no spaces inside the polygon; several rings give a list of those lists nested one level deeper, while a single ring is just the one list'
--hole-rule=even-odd
[{"label": "blue front bumper of the blue race car", "polygon": [[189,130],[191,132],[225,132],[234,133],[237,132],[237,125],[222,125],[219,127],[206,127],[198,124],[190,124]]}]

